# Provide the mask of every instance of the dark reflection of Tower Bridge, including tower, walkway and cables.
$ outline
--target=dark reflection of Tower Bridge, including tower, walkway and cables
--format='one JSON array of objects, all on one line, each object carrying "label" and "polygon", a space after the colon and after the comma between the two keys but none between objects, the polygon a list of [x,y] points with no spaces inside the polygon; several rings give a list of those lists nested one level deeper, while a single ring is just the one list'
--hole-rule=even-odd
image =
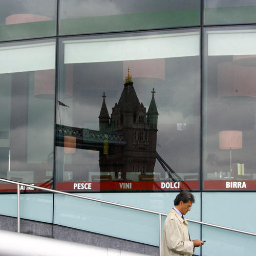
[{"label": "dark reflection of Tower Bridge, including tower, walkway and cables", "polygon": [[181,180],[156,152],[158,111],[154,88],[151,93],[146,111],[137,97],[128,69],[123,91],[111,115],[103,93],[99,131],[56,125],[56,145],[66,146],[65,136],[72,136],[76,148],[99,151],[100,172],[122,173],[122,177],[131,172],[154,173],[158,159],[170,179]]}]

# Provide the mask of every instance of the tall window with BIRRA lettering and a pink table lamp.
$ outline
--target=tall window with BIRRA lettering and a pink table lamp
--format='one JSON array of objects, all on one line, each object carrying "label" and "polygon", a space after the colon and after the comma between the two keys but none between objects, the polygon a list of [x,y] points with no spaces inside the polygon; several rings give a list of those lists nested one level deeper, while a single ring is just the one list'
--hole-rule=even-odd
[{"label": "tall window with BIRRA lettering and a pink table lamp", "polygon": [[256,29],[205,30],[204,188],[256,188]]}]

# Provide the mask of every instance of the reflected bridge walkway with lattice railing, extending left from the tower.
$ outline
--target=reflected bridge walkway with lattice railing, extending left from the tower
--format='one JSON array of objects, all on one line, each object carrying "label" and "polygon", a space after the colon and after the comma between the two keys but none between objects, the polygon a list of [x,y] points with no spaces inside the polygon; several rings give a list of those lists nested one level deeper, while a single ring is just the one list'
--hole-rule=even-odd
[{"label": "reflected bridge walkway with lattice railing, extending left from the tower", "polygon": [[124,146],[126,141],[122,134],[100,132],[96,130],[71,127],[67,125],[56,124],[56,146],[64,145],[64,137],[72,136],[76,138],[76,146],[83,149],[101,150],[105,140],[108,140],[110,145]]}]

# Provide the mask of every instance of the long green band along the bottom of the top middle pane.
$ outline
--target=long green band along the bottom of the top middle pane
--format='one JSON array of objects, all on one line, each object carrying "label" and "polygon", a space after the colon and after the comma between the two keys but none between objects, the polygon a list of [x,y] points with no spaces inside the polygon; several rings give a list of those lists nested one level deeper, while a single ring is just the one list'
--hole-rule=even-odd
[{"label": "long green band along the bottom of the top middle pane", "polygon": [[60,35],[200,25],[200,10],[82,17],[60,20]]}]

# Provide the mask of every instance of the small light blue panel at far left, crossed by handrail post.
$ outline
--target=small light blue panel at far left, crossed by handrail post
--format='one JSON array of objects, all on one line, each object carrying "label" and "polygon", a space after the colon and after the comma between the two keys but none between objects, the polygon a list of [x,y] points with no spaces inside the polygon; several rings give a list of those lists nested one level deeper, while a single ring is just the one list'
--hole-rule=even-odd
[{"label": "small light blue panel at far left, crossed by handrail post", "polygon": [[[20,195],[20,218],[52,223],[53,195]],[[0,214],[17,217],[17,195],[0,195]]]}]

